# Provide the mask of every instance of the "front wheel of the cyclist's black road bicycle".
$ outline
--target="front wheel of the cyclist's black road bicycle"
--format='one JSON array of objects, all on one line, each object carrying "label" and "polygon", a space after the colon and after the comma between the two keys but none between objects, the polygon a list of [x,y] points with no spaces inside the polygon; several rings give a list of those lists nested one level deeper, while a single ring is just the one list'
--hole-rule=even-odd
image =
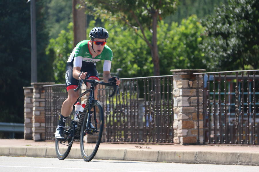
[{"label": "front wheel of the cyclist's black road bicycle", "polygon": [[[100,101],[94,100],[91,104],[90,109],[94,109],[94,114],[92,115],[92,122],[94,121],[93,116],[96,116],[96,124],[93,122],[93,125],[97,128],[98,132],[94,132],[93,134],[85,134],[86,133],[86,122],[87,122],[87,114],[88,110],[84,116],[83,124],[81,126],[80,132],[80,149],[81,155],[85,161],[91,161],[96,152],[99,148],[101,139],[102,139],[102,132],[103,132],[103,125],[104,125],[104,115],[103,115],[103,108]],[[84,126],[84,127],[83,127]]]}]

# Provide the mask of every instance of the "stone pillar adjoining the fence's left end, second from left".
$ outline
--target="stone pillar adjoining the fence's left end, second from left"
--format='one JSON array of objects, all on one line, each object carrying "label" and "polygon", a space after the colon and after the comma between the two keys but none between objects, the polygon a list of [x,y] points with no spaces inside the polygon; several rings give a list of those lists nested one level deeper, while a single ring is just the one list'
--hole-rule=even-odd
[{"label": "stone pillar adjoining the fence's left end, second from left", "polygon": [[33,85],[32,137],[34,141],[45,140],[45,93],[43,85],[55,83],[31,83]]}]

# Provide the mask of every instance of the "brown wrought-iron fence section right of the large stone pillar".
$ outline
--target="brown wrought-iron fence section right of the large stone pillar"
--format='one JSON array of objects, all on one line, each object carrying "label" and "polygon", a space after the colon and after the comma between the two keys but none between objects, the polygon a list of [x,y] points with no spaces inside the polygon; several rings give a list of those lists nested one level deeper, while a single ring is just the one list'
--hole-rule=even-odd
[{"label": "brown wrought-iron fence section right of the large stone pillar", "polygon": [[203,77],[203,144],[259,144],[258,73],[195,73]]}]

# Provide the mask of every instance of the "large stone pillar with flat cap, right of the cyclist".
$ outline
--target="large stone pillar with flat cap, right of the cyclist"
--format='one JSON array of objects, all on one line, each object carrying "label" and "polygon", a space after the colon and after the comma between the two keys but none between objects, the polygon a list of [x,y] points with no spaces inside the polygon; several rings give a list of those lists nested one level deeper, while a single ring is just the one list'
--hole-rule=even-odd
[{"label": "large stone pillar with flat cap, right of the cyclist", "polygon": [[[174,143],[194,144],[198,139],[197,129],[197,78],[193,73],[205,69],[176,69],[171,70],[174,79]],[[199,128],[203,127],[202,120],[202,76],[199,75]],[[200,129],[200,138],[203,138]]]}]

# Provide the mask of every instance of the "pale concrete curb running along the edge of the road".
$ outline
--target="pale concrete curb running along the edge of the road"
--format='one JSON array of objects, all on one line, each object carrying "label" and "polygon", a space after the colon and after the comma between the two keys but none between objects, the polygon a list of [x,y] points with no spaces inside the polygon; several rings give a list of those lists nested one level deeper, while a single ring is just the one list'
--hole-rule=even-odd
[{"label": "pale concrete curb running along the edge of the road", "polygon": [[[56,151],[54,146],[0,146],[0,156],[56,158]],[[71,148],[68,158],[81,159],[80,148]],[[259,166],[259,153],[231,151],[99,148],[94,159]]]}]

